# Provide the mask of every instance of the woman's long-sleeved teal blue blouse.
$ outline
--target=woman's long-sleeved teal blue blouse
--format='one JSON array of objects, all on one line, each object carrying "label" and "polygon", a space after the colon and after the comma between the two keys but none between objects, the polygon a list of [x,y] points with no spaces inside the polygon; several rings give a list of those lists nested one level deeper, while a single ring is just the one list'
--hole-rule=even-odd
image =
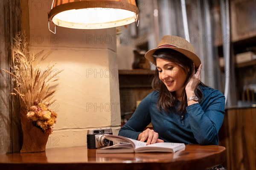
[{"label": "woman's long-sleeved teal blue blouse", "polygon": [[120,136],[137,139],[151,122],[159,139],[165,142],[218,145],[218,131],[224,119],[225,96],[218,90],[200,86],[204,98],[200,103],[186,107],[181,116],[170,110],[157,110],[159,93],[148,94],[127,123],[119,130]]}]

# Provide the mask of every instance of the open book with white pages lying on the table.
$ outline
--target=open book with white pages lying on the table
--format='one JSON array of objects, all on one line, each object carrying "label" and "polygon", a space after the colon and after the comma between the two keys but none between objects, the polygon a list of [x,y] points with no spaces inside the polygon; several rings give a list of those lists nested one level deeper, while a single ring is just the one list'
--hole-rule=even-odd
[{"label": "open book with white pages lying on the table", "polygon": [[102,137],[113,141],[112,146],[101,147],[97,149],[97,153],[143,153],[143,152],[172,152],[175,153],[178,150],[184,150],[185,144],[183,143],[171,143],[160,142],[146,145],[146,142],[140,142],[135,139],[126,138],[123,136],[116,136],[106,134]]}]

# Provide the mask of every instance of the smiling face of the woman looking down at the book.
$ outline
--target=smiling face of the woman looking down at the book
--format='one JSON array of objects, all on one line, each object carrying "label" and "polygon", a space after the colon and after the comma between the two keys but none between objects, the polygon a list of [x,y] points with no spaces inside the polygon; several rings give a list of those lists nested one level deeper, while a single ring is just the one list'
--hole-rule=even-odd
[{"label": "smiling face of the woman looking down at the book", "polygon": [[187,72],[179,65],[166,59],[156,59],[159,78],[166,85],[167,89],[180,96],[187,77]]}]

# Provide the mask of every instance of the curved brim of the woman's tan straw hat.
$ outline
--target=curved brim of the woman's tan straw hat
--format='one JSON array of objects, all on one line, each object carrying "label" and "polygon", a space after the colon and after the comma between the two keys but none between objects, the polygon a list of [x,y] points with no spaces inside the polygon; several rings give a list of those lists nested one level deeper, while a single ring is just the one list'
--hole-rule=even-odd
[{"label": "curved brim of the woman's tan straw hat", "polygon": [[[198,69],[199,65],[201,64],[201,60],[195,53],[192,53],[191,51],[188,51],[184,48],[177,48],[177,47],[163,47],[163,48],[169,48],[169,49],[178,51],[178,52],[184,54],[186,57],[192,59],[192,61],[195,64],[195,69]],[[148,59],[148,61],[152,62],[153,64],[156,64],[156,63],[154,63],[153,54],[155,51],[160,50],[160,49],[162,49],[162,48],[153,48],[153,49],[149,50],[145,54],[145,58]]]}]

